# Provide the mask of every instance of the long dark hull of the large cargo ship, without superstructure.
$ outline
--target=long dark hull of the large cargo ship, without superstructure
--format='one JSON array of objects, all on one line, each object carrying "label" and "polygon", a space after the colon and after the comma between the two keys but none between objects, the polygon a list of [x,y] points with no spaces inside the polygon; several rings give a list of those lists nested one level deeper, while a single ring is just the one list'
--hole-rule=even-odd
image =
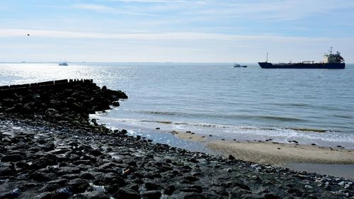
[{"label": "long dark hull of the large cargo ship, without superstructure", "polygon": [[345,69],[345,63],[289,63],[272,64],[269,62],[258,62],[262,69]]}]

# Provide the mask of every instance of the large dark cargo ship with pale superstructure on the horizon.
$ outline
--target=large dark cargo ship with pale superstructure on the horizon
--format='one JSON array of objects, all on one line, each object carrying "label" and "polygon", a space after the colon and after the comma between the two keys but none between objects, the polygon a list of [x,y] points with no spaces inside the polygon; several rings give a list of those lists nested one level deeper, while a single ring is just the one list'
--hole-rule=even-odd
[{"label": "large dark cargo ship with pale superstructure on the horizon", "polygon": [[332,47],[329,53],[324,54],[324,61],[315,63],[314,61],[304,61],[299,63],[278,63],[272,64],[267,60],[265,62],[258,62],[262,69],[344,69],[346,68],[346,63],[343,57],[341,57],[340,52],[333,54]]}]

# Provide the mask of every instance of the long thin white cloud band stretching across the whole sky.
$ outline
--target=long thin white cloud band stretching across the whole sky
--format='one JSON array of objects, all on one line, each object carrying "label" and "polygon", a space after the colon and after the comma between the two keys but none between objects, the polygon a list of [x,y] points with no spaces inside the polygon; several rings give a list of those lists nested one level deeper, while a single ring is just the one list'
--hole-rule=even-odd
[{"label": "long thin white cloud band stretching across the whole sky", "polygon": [[[30,37],[35,38],[67,38],[67,39],[101,39],[101,40],[219,40],[219,41],[247,41],[266,40],[267,42],[307,42],[326,41],[330,38],[309,37],[285,37],[281,35],[228,35],[222,33],[132,33],[132,34],[108,34],[108,33],[80,33],[55,30],[23,30],[0,29],[0,37]],[[333,40],[333,39],[332,39]],[[353,42],[353,38],[336,39]]]}]

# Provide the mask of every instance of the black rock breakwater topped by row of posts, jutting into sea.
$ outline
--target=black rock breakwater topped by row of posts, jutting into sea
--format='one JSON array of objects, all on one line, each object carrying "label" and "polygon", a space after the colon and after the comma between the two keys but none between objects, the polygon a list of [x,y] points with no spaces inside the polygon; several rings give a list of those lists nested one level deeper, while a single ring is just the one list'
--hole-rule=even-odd
[{"label": "black rock breakwater topped by row of posts, jutting into sea", "polygon": [[[17,118],[42,118],[59,125],[93,126],[89,113],[119,106],[122,91],[100,88],[92,79],[63,79],[0,87],[0,113]],[[105,128],[103,128],[105,129]]]}]

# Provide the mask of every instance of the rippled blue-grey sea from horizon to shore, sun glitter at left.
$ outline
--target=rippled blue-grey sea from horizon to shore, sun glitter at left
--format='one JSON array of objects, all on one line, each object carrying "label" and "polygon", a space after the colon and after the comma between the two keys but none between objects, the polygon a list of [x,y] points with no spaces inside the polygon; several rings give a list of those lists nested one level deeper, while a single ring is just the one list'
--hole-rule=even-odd
[{"label": "rippled blue-grey sea from horizon to shore, sun glitter at left", "polygon": [[93,79],[129,96],[119,108],[93,118],[161,140],[170,139],[161,132],[190,130],[215,139],[297,140],[354,149],[354,64],[343,70],[232,65],[0,64],[0,85]]}]

